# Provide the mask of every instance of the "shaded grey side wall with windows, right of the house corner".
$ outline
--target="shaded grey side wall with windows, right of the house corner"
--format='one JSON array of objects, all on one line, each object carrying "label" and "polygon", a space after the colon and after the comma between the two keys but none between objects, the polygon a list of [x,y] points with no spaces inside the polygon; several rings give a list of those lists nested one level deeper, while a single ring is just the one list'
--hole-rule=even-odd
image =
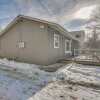
[{"label": "shaded grey side wall with windows, right of the house corner", "polygon": [[[59,48],[54,48],[54,34],[59,35]],[[65,39],[70,40],[62,33],[48,27],[48,64],[55,63],[69,56],[69,54],[65,54]]]}]

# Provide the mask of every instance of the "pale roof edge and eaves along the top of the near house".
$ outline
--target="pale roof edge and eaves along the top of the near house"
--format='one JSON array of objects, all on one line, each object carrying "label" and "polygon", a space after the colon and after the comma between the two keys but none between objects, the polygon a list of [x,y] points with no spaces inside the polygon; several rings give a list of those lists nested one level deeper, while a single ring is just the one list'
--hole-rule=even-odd
[{"label": "pale roof edge and eaves along the top of the near house", "polygon": [[38,22],[42,22],[42,23],[46,23],[48,25],[50,25],[52,28],[58,30],[59,32],[61,32],[62,34],[66,35],[67,37],[77,40],[74,36],[72,36],[65,28],[63,28],[62,26],[60,26],[57,23],[54,22],[50,22],[50,21],[46,21],[46,20],[42,20],[42,19],[38,19],[38,18],[33,18],[33,17],[29,17],[29,16],[24,16],[24,15],[18,15],[10,24],[8,24],[8,26],[6,28],[4,28],[1,32],[0,32],[0,37],[5,34],[6,31],[8,31],[11,27],[13,27],[13,25],[15,25],[18,21],[20,21],[22,18],[26,18],[26,19],[30,19],[30,20],[35,20]]}]

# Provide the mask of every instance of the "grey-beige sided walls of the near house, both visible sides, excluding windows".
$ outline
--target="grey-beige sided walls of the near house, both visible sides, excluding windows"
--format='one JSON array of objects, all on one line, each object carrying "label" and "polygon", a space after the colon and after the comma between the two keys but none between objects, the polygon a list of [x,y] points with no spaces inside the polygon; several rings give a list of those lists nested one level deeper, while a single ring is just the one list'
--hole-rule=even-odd
[{"label": "grey-beige sided walls of the near house, both visible sides, excluding windows", "polygon": [[[59,48],[54,48],[54,34],[59,35]],[[70,56],[65,53],[65,39],[71,40],[47,24],[23,18],[0,37],[0,56],[40,65],[52,64]],[[24,48],[18,47],[21,42],[25,42]],[[77,47],[74,42],[72,50]]]}]

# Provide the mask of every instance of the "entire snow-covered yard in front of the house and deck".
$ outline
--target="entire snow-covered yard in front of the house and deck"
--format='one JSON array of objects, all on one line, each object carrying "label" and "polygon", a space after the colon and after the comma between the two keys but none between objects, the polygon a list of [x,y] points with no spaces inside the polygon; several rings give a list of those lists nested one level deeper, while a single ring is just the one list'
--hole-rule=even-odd
[{"label": "entire snow-covered yard in front of the house and deck", "polygon": [[[0,100],[100,100],[99,66],[69,64],[56,72],[40,67],[0,59]],[[64,82],[59,82],[62,77]],[[69,80],[98,88],[68,84]]]}]

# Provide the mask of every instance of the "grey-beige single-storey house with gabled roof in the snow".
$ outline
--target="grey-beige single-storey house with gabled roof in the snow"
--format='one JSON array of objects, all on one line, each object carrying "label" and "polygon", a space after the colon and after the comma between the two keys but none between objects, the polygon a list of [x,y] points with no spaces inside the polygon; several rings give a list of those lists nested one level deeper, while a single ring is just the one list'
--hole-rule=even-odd
[{"label": "grey-beige single-storey house with gabled roof in the snow", "polygon": [[48,65],[67,58],[78,48],[77,39],[60,25],[19,15],[0,32],[0,56]]}]

